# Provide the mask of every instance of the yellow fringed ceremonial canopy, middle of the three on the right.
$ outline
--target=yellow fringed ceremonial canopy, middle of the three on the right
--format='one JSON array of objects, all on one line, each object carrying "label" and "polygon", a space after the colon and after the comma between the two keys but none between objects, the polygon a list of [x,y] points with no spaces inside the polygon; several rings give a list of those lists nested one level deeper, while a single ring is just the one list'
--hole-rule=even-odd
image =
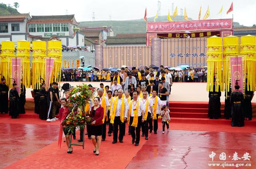
[{"label": "yellow fringed ceremonial canopy, middle of the three on the right", "polygon": [[223,38],[223,69],[222,69],[222,87],[226,90],[226,96],[230,90],[231,74],[230,74],[230,56],[238,54],[239,38],[237,36],[227,36]]}]

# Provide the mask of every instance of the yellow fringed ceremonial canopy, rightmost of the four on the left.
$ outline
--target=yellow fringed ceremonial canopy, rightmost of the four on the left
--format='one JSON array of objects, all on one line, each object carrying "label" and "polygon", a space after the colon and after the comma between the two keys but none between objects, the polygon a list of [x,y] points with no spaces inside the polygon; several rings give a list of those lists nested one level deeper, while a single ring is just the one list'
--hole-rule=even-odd
[{"label": "yellow fringed ceremonial canopy, rightmost of the four on the left", "polygon": [[58,82],[60,85],[60,74],[62,66],[62,45],[61,41],[52,40],[48,41],[48,57],[54,58],[54,66],[50,83],[53,81]]}]

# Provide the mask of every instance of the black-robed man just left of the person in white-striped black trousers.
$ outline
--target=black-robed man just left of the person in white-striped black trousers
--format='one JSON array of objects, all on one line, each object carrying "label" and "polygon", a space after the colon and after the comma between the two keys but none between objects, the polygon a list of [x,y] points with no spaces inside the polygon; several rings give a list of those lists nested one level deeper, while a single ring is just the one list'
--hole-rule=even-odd
[{"label": "black-robed man just left of the person in white-striped black trousers", "polygon": [[39,104],[38,104],[38,107],[39,107],[39,118],[41,120],[46,120],[47,119],[47,107],[48,107],[48,104],[47,104],[47,92],[45,90],[45,83],[42,83],[41,85],[41,88],[39,90]]}]

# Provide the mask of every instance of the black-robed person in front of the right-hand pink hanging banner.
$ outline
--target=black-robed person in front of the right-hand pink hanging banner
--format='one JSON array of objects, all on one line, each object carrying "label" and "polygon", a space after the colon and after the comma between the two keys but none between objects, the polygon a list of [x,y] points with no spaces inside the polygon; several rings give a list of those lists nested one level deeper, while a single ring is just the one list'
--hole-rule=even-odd
[{"label": "black-robed person in front of the right-hand pink hanging banner", "polygon": [[244,101],[244,95],[242,92],[239,92],[240,86],[235,86],[235,91],[231,93],[230,104],[231,104],[231,126],[242,127],[244,126],[244,113],[242,108],[242,103]]}]

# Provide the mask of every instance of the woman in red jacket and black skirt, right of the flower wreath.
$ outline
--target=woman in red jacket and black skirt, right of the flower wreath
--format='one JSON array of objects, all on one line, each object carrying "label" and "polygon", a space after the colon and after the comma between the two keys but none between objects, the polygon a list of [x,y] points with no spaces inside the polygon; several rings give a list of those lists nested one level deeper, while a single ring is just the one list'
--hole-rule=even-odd
[{"label": "woman in red jacket and black skirt, right of the flower wreath", "polygon": [[101,143],[101,135],[102,135],[102,119],[104,115],[104,108],[99,105],[100,98],[94,98],[94,106],[92,106],[92,110],[90,116],[95,119],[91,123],[91,130],[92,130],[92,143],[94,145],[93,153],[96,153],[96,156],[99,155],[100,150],[100,143]]}]

